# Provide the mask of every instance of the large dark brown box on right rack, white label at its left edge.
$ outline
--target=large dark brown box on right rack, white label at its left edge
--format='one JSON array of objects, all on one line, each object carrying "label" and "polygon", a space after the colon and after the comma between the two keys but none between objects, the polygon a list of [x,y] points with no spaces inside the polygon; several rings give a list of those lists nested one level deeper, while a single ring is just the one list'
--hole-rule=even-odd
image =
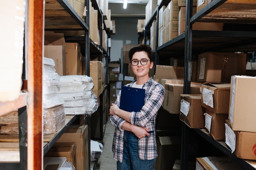
[{"label": "large dark brown box on right rack, white label at its left edge", "polygon": [[245,75],[245,68],[244,53],[202,53],[198,56],[198,82],[230,83],[231,75]]}]

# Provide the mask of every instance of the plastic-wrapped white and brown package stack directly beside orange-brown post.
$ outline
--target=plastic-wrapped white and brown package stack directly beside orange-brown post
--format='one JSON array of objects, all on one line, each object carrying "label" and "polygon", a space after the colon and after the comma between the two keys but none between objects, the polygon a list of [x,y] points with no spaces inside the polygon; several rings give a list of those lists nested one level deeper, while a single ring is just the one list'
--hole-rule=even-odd
[{"label": "plastic-wrapped white and brown package stack directly beside orange-brown post", "polygon": [[43,133],[54,133],[65,126],[64,100],[57,95],[60,91],[60,75],[56,73],[55,62],[43,59]]}]

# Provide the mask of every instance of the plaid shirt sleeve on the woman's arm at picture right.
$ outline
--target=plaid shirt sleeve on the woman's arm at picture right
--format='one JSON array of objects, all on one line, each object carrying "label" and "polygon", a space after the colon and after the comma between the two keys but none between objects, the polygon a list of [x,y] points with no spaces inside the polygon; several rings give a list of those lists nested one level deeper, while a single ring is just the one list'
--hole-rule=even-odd
[{"label": "plaid shirt sleeve on the woman's arm at picture right", "polygon": [[[150,91],[152,89],[152,91]],[[162,106],[165,97],[165,89],[161,84],[153,86],[148,91],[148,100],[139,112],[130,114],[130,123],[136,126],[144,127],[152,119]]]}]

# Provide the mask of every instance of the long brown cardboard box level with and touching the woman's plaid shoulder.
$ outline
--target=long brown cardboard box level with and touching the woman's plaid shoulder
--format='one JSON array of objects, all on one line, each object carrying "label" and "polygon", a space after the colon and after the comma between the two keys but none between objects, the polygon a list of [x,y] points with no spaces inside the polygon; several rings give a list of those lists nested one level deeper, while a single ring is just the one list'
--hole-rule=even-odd
[{"label": "long brown cardboard box level with and touching the woman's plaid shoulder", "polygon": [[184,79],[184,67],[156,65],[155,81],[161,82],[161,79]]}]

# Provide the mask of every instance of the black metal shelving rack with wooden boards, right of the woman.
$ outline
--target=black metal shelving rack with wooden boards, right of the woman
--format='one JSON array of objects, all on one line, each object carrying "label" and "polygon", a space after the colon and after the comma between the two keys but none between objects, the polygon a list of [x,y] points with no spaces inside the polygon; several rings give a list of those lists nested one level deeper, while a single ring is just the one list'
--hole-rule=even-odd
[{"label": "black metal shelving rack with wooden boards, right of the woman", "polygon": [[[163,5],[168,4],[170,0],[162,0],[157,6],[152,17],[145,27],[150,28],[157,11]],[[232,4],[233,3],[233,4]],[[234,4],[236,3],[236,4]],[[236,6],[234,6],[236,5]],[[235,8],[236,7],[236,8]],[[164,59],[162,56],[180,56],[184,58],[184,94],[190,93],[192,73],[192,56],[206,51],[216,52],[250,52],[256,49],[256,31],[196,31],[192,30],[192,24],[195,22],[223,22],[235,24],[255,24],[256,23],[256,2],[251,0],[213,0],[206,7],[192,16],[193,0],[186,1],[186,31],[173,40],[157,46],[155,63]],[[229,10],[229,13],[225,11]],[[158,30],[158,24],[157,24]],[[158,31],[157,31],[158,34]],[[158,37],[158,35],[157,35]],[[158,40],[158,38],[157,38]],[[156,40],[156,41],[157,41]],[[182,150],[181,150],[181,170],[187,169],[188,163],[188,136],[189,127],[182,124]],[[209,141],[214,147],[218,148],[225,155],[236,161],[240,166],[247,170],[255,170],[256,162],[244,160],[231,154],[231,150],[226,144],[214,140],[209,134],[201,129],[193,129],[198,135]]]}]

